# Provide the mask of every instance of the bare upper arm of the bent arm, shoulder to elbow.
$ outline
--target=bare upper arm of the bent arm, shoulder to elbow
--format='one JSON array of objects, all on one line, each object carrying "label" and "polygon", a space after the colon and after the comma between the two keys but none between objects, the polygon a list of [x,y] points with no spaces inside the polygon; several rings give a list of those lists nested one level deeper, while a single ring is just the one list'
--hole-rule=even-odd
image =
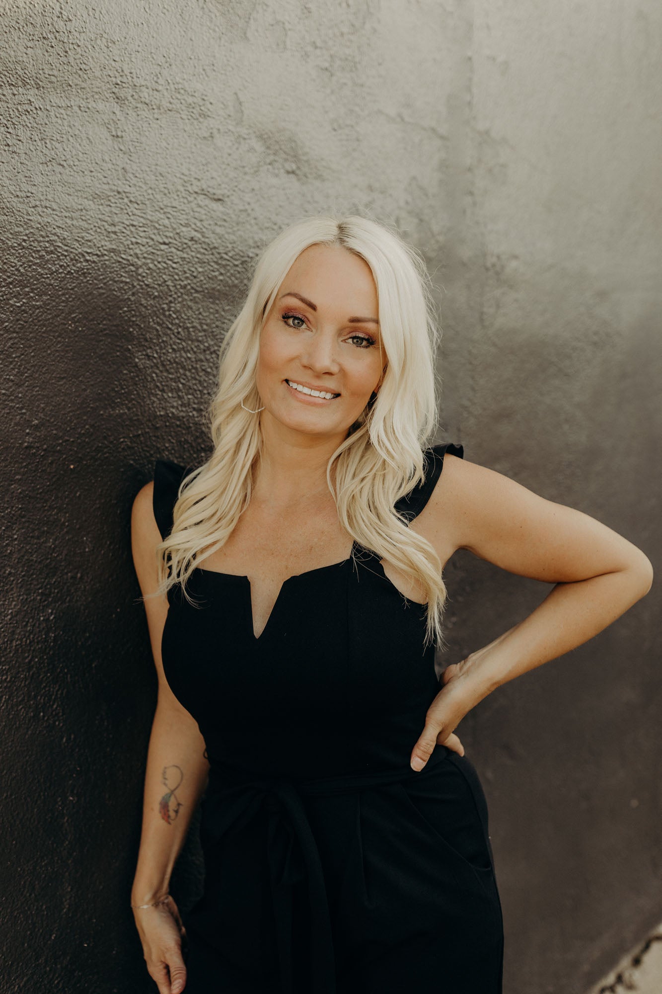
[{"label": "bare upper arm of the bent arm, shoulder to elbow", "polygon": [[536,580],[573,582],[633,568],[645,576],[651,569],[640,549],[595,518],[447,453],[422,514],[426,537],[434,542],[436,534],[446,558],[466,549]]}]

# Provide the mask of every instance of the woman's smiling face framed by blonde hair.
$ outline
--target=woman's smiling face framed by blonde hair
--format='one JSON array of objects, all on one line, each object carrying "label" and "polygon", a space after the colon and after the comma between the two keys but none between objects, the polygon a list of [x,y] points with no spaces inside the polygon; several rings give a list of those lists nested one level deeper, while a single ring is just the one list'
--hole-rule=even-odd
[{"label": "woman's smiling face framed by blonde hair", "polygon": [[261,416],[345,437],[386,366],[378,319],[377,287],[363,258],[341,246],[304,249],[262,327],[255,376]]}]

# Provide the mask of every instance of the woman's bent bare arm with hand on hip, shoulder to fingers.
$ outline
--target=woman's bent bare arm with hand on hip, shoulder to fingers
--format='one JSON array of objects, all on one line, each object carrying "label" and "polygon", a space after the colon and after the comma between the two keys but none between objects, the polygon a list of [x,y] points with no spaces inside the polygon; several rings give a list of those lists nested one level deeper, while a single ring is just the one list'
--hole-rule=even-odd
[{"label": "woman's bent bare arm with hand on hip, shoulder to fingers", "polygon": [[444,458],[429,512],[432,531],[436,526],[454,549],[556,585],[519,624],[446,667],[414,745],[414,769],[422,768],[437,743],[463,752],[453,729],[472,707],[501,684],[588,641],[643,597],[653,581],[647,556],[622,535],[452,455]]}]

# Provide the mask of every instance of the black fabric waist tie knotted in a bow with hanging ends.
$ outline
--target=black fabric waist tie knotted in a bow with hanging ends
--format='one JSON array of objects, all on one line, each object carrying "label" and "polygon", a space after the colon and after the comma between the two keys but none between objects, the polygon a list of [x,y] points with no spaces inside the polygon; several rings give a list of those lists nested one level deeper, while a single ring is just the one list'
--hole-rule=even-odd
[{"label": "black fabric waist tie knotted in a bow with hanging ends", "polygon": [[449,752],[437,745],[420,772],[408,764],[376,773],[320,777],[311,780],[251,777],[249,772],[210,756],[204,806],[206,832],[220,842],[232,829],[239,832],[262,808],[267,812],[267,861],[275,916],[276,944],[283,994],[294,994],[292,948],[293,896],[305,882],[310,921],[311,994],[336,994],[331,917],[317,843],[302,797],[344,794],[424,776]]}]

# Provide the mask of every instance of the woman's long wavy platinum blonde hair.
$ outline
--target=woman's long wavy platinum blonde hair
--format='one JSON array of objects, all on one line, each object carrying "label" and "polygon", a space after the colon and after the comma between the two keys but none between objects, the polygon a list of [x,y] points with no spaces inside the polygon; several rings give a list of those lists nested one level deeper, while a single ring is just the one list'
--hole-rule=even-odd
[{"label": "woman's long wavy platinum blonde hair", "polygon": [[[223,339],[208,417],[214,450],[179,486],[173,527],[157,547],[158,593],[186,582],[227,541],[248,507],[262,438],[255,369],[264,317],[292,263],[309,246],[342,246],[370,266],[386,352],[382,385],[331,455],[326,478],[346,531],[425,591],[424,646],[443,646],[446,588],[429,542],[394,507],[423,479],[423,448],[437,418],[434,368],[440,332],[425,263],[398,232],[359,215],[303,218],[259,255],[248,296]],[[384,360],[384,356],[383,356]],[[384,361],[383,361],[384,367]],[[335,474],[332,472],[335,467]]]}]

